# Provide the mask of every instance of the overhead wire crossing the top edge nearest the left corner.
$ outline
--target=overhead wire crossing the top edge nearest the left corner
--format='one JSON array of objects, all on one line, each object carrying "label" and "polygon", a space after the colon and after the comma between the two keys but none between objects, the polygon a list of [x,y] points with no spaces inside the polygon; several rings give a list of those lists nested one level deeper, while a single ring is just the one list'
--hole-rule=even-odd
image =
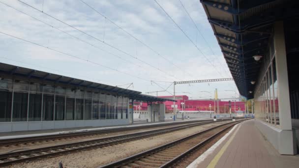
[{"label": "overhead wire crossing the top edge nearest the left corner", "polygon": [[133,57],[134,59],[137,59],[138,61],[143,62],[143,63],[147,64],[148,66],[150,66],[150,67],[152,67],[152,68],[154,68],[154,69],[156,69],[156,70],[158,70],[158,71],[160,71],[160,72],[165,73],[166,75],[169,75],[169,76],[172,76],[173,78],[178,79],[178,78],[175,77],[174,75],[171,75],[171,74],[169,74],[169,73],[167,73],[167,72],[161,70],[160,68],[157,68],[157,67],[155,67],[154,65],[151,65],[150,63],[148,63],[148,62],[146,62],[146,61],[144,61],[144,60],[142,60],[142,59],[140,59],[140,58],[138,58],[138,57],[136,57],[136,56],[133,56],[133,55],[131,55],[131,54],[125,52],[125,51],[122,51],[122,50],[120,50],[119,48],[117,48],[117,47],[115,47],[115,46],[113,46],[113,45],[111,45],[111,44],[109,44],[109,43],[106,43],[105,41],[102,41],[102,40],[98,39],[97,37],[94,37],[94,36],[90,35],[89,33],[85,32],[85,31],[83,31],[83,30],[81,30],[81,29],[79,29],[79,28],[75,28],[75,27],[73,27],[73,26],[67,24],[66,22],[61,21],[60,19],[57,19],[56,17],[54,17],[54,16],[52,16],[52,15],[46,13],[46,12],[43,12],[43,11],[41,11],[41,10],[39,10],[39,9],[37,9],[37,8],[35,8],[35,7],[33,7],[33,6],[31,6],[30,4],[28,4],[28,3],[26,3],[26,2],[23,2],[22,0],[18,0],[18,1],[21,2],[21,3],[23,3],[23,4],[25,4],[25,5],[27,5],[27,6],[29,6],[29,7],[31,7],[31,8],[34,9],[34,10],[37,10],[37,11],[39,11],[39,12],[41,12],[41,13],[43,13],[43,14],[45,14],[45,15],[47,15],[47,16],[49,16],[49,17],[51,17],[51,18],[53,18],[53,19],[55,19],[55,20],[57,20],[57,21],[59,21],[60,23],[62,23],[62,24],[64,24],[64,25],[67,25],[67,26],[69,26],[69,27],[71,27],[71,28],[74,28],[74,29],[76,29],[76,30],[82,32],[83,34],[86,34],[87,36],[90,36],[91,38],[93,38],[93,39],[95,39],[95,40],[97,40],[97,41],[102,42],[103,44],[105,44],[105,45],[107,45],[107,46],[109,46],[109,47],[111,47],[111,48],[113,48],[113,49],[115,49],[115,50],[117,50],[117,51],[119,51],[119,52],[121,52],[121,53],[127,55],[127,56]]}]

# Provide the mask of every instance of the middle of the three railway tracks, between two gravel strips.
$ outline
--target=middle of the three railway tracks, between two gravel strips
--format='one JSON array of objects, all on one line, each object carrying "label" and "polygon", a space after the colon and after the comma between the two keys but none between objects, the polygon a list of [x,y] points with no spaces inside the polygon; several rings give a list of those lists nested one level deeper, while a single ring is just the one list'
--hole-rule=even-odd
[{"label": "middle of the three railway tracks, between two gravel strips", "polygon": [[82,142],[74,142],[74,143],[68,143],[68,144],[63,144],[63,145],[42,147],[42,148],[1,154],[0,155],[0,167],[4,166],[4,165],[9,165],[12,163],[22,162],[25,160],[41,158],[41,157],[50,156],[50,155],[57,155],[60,153],[70,152],[70,151],[74,151],[74,150],[83,150],[83,149],[92,148],[92,147],[104,147],[104,146],[120,144],[120,143],[127,142],[127,141],[144,139],[144,138],[148,138],[148,137],[152,137],[152,136],[157,136],[160,134],[166,134],[169,132],[178,131],[181,129],[186,129],[186,128],[200,126],[200,125],[205,125],[205,124],[209,124],[209,123],[215,123],[215,122],[214,121],[206,121],[206,122],[200,122],[200,123],[191,123],[189,125],[175,126],[175,127],[171,127],[171,128],[146,131],[146,132],[142,132],[142,133],[134,133],[134,134],[128,134],[128,135],[122,135],[122,136],[115,136],[115,137],[102,138],[102,139],[96,139],[96,140],[87,140],[87,141],[82,141]]}]

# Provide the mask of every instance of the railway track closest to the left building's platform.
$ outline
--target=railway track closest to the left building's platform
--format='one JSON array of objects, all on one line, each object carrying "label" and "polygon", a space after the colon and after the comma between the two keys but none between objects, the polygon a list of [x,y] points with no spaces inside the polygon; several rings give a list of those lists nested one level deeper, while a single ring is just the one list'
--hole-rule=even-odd
[{"label": "railway track closest to the left building's platform", "polygon": [[[220,121],[230,120],[231,118],[223,119]],[[19,144],[27,144],[31,143],[34,144],[36,142],[47,142],[50,140],[63,140],[63,139],[72,139],[72,138],[83,138],[83,137],[90,137],[90,136],[97,136],[107,133],[116,133],[121,131],[129,131],[129,130],[140,130],[144,128],[155,128],[161,126],[171,126],[171,125],[178,125],[178,124],[188,124],[188,123],[195,123],[195,122],[206,122],[206,121],[186,121],[186,122],[179,122],[179,123],[169,123],[169,124],[155,124],[155,125],[144,125],[138,127],[125,127],[125,128],[111,128],[111,129],[104,129],[104,130],[95,130],[95,131],[86,131],[86,132],[75,132],[75,133],[66,133],[66,134],[57,134],[57,135],[46,135],[46,136],[37,136],[37,137],[25,137],[25,138],[17,138],[17,139],[7,139],[7,140],[0,140],[0,146],[11,146],[11,145],[19,145]]]}]

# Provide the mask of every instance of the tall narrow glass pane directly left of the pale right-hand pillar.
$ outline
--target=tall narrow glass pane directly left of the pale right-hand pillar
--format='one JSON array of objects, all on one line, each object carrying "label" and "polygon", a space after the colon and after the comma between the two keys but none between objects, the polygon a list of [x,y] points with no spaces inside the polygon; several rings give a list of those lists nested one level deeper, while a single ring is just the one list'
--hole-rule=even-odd
[{"label": "tall narrow glass pane directly left of the pale right-hand pillar", "polygon": [[277,76],[276,76],[276,62],[275,58],[273,59],[273,87],[274,87],[274,109],[275,109],[275,114],[274,114],[274,123],[276,125],[279,125],[279,106],[278,106],[278,90],[277,90]]}]

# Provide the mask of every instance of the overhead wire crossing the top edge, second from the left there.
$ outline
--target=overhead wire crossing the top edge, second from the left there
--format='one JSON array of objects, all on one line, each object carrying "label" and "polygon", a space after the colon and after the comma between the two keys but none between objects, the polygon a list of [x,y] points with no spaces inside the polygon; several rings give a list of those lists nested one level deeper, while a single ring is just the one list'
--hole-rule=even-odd
[{"label": "overhead wire crossing the top edge, second from the left there", "polygon": [[[120,28],[122,31],[124,31],[125,33],[127,33],[129,36],[131,36],[132,38],[134,38],[135,40],[137,40],[139,43],[141,43],[142,45],[144,45],[145,47],[147,47],[149,50],[151,50],[152,52],[154,52],[155,54],[157,54],[158,56],[162,57],[163,59],[165,59],[166,61],[170,62],[171,64],[173,64],[175,67],[179,68],[180,70],[182,70],[183,72],[186,72],[185,70],[181,69],[181,67],[179,67],[178,65],[176,65],[173,61],[169,60],[168,58],[166,58],[165,56],[161,55],[159,52],[155,51],[153,48],[149,47],[149,45],[145,44],[144,42],[142,42],[141,40],[139,40],[136,36],[134,36],[133,34],[129,33],[127,30],[125,30],[124,28],[120,27],[118,24],[116,24],[115,22],[113,22],[111,19],[109,19],[107,16],[105,16],[104,14],[102,14],[101,12],[99,12],[98,10],[96,10],[95,8],[93,8],[92,6],[90,6],[87,2],[85,2],[84,0],[80,0],[82,1],[84,4],[86,4],[87,6],[90,7],[90,9],[92,9],[93,11],[95,11],[96,13],[98,13],[99,15],[101,15],[102,17],[105,18],[105,20],[108,20],[109,22],[111,22],[113,25],[115,25],[116,27]],[[189,76],[192,76],[192,74],[186,72]]]}]

